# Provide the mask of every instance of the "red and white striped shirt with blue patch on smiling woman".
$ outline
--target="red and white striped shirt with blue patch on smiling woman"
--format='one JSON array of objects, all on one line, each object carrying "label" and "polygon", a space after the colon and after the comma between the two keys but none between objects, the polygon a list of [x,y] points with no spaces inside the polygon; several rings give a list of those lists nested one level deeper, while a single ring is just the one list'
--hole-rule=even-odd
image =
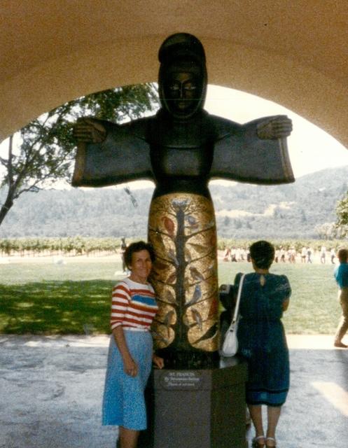
[{"label": "red and white striped shirt with blue patch on smiling woman", "polygon": [[113,287],[111,301],[111,330],[123,328],[148,330],[158,311],[155,291],[149,284],[124,279]]}]

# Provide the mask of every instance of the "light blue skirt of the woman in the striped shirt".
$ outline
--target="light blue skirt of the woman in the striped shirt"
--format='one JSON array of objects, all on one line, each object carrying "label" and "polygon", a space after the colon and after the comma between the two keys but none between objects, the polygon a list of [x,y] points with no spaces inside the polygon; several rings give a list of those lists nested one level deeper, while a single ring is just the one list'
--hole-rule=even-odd
[{"label": "light blue skirt of the woman in the striped shirt", "polygon": [[123,371],[123,360],[111,335],[102,408],[102,424],[133,430],[146,429],[144,390],[151,372],[153,339],[148,331],[124,330],[125,340],[138,365],[137,377]]}]

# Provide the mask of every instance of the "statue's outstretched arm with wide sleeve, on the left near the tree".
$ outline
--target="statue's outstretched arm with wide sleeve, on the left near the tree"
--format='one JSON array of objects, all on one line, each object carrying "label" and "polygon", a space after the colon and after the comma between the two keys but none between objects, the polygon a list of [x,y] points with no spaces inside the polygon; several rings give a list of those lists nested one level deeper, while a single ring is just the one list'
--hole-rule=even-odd
[{"label": "statue's outstretched arm with wide sleeve, on the left near the tree", "polygon": [[145,140],[148,119],[125,125],[91,118],[78,120],[78,151],[73,186],[109,186],[153,179],[150,148]]}]

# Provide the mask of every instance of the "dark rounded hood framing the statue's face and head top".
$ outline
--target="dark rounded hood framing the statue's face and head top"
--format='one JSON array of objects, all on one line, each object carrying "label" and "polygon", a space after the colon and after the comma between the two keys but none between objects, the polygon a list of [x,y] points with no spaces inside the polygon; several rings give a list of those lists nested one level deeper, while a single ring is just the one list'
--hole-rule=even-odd
[{"label": "dark rounded hood framing the statue's face and head top", "polygon": [[[172,34],[160,46],[158,59],[160,61],[158,89],[162,108],[174,116],[174,118],[186,119],[192,117],[203,108],[207,93],[207,68],[202,43],[192,34]],[[169,78],[170,73],[174,71],[178,73],[192,73],[198,85],[193,106],[186,113],[179,115],[176,115],[176,111],[174,111],[165,94],[166,80]]]}]

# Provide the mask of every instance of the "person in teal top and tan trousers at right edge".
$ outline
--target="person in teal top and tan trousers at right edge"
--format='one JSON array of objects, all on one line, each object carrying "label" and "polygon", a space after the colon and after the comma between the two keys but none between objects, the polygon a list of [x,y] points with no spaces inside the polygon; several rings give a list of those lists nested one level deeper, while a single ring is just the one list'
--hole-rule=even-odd
[{"label": "person in teal top and tan trousers at right edge", "polygon": [[337,253],[340,264],[335,267],[334,276],[339,286],[338,300],[340,300],[342,308],[342,316],[335,332],[335,347],[347,349],[347,345],[343,344],[342,337],[348,330],[348,250],[340,249]]}]

